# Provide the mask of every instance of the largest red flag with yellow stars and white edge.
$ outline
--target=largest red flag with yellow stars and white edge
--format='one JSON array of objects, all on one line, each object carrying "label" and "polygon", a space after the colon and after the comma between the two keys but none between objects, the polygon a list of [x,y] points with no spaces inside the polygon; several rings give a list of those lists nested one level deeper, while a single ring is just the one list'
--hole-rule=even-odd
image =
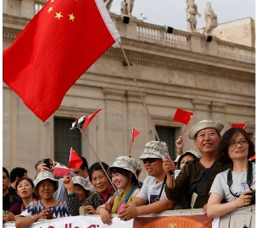
[{"label": "largest red flag with yellow stars and white edge", "polygon": [[49,0],[3,51],[3,81],[43,122],[120,35],[103,0]]}]

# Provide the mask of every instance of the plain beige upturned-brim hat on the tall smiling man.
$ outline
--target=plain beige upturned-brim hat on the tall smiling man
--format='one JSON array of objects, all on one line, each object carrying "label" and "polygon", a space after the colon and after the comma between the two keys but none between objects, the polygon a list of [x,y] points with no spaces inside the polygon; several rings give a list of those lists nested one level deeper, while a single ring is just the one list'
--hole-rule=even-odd
[{"label": "plain beige upturned-brim hat on the tall smiling man", "polygon": [[212,120],[200,121],[191,128],[189,132],[189,138],[193,140],[196,139],[197,133],[205,128],[214,128],[220,133],[224,128],[224,125],[220,122],[214,122]]}]

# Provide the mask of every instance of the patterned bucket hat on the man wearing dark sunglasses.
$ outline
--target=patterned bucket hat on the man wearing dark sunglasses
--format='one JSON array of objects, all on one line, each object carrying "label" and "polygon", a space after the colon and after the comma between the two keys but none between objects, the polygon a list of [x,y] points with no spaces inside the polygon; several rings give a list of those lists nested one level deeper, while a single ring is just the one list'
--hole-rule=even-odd
[{"label": "patterned bucket hat on the man wearing dark sunglasses", "polygon": [[164,142],[161,142],[163,145],[164,152],[162,151],[159,141],[150,141],[145,145],[144,152],[140,156],[140,159],[147,159],[147,158],[159,158],[163,159],[165,157],[169,157],[168,153],[168,145]]}]

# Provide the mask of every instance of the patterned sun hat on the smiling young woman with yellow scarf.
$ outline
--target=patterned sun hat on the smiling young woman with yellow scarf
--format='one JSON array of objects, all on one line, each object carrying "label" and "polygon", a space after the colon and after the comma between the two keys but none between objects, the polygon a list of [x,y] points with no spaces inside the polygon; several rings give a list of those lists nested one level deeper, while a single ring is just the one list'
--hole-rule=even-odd
[{"label": "patterned sun hat on the smiling young woman with yellow scarf", "polygon": [[127,171],[131,171],[137,179],[136,171],[139,171],[140,168],[140,162],[136,161],[134,158],[129,158],[127,156],[119,156],[116,160],[114,160],[114,163],[112,166],[109,166],[108,173],[111,175],[111,169],[112,168],[122,168]]}]

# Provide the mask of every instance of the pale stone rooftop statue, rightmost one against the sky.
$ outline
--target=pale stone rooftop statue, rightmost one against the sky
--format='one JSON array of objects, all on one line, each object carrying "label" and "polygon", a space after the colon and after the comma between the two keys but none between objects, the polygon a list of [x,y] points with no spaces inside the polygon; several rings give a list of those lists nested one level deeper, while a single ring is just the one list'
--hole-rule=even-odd
[{"label": "pale stone rooftop statue, rightmost one against the sky", "polygon": [[209,33],[217,27],[217,15],[214,14],[214,10],[212,9],[211,3],[206,3],[206,8],[204,9],[204,20],[205,26],[203,28],[203,34],[209,35]]}]

